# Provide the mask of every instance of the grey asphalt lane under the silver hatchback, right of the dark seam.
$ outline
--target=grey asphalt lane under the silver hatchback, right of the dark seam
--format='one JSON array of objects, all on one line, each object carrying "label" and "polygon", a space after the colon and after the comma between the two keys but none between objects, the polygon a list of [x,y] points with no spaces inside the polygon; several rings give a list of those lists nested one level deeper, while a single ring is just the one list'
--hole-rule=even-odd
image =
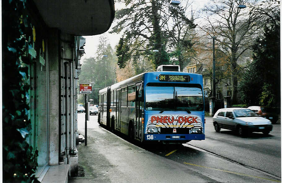
[{"label": "grey asphalt lane under the silver hatchback, right of the dark seam", "polygon": [[281,177],[280,125],[273,124],[273,130],[268,135],[253,132],[241,137],[230,130],[215,132],[212,118],[206,117],[205,141],[191,141],[188,144]]}]

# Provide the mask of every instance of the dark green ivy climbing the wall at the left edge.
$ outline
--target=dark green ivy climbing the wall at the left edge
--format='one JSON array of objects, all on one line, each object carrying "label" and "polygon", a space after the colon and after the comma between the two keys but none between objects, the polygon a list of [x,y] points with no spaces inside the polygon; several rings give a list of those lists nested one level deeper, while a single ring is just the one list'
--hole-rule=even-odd
[{"label": "dark green ivy climbing the wall at the left edge", "polygon": [[30,58],[25,31],[26,0],[2,1],[2,157],[4,182],[36,182],[37,150],[27,142]]}]

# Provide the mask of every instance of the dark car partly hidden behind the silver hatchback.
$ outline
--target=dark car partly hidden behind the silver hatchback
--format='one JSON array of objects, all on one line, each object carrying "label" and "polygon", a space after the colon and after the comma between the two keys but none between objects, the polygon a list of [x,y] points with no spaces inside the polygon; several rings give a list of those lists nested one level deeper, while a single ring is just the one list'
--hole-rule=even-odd
[{"label": "dark car partly hidden behind the silver hatchback", "polygon": [[264,118],[269,119],[272,123],[276,123],[278,120],[279,113],[277,109],[272,107],[261,107],[261,106],[250,106],[248,109],[251,109],[253,112],[262,116]]}]

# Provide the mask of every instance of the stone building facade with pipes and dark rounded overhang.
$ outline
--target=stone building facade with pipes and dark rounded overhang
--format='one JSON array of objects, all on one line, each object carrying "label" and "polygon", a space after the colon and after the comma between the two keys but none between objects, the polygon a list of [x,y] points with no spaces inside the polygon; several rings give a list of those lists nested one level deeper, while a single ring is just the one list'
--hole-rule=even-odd
[{"label": "stone building facade with pipes and dark rounded overhang", "polygon": [[31,63],[27,141],[38,150],[35,176],[40,182],[54,178],[67,182],[68,176],[77,174],[77,79],[85,53],[82,36],[110,28],[114,1],[30,0],[24,13],[30,21],[24,36]]}]

